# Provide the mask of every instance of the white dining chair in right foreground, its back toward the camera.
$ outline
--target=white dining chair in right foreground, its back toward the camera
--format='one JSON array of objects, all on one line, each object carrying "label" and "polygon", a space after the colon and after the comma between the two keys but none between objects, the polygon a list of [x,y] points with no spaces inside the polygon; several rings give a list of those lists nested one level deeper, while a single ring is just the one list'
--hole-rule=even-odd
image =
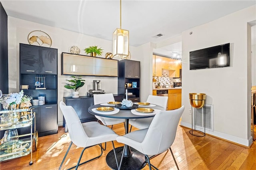
[{"label": "white dining chair in right foreground, its back toward the camera", "polygon": [[[126,144],[144,154],[146,163],[148,163],[150,170],[151,166],[157,169],[155,166],[150,164],[150,158],[170,149],[172,158],[178,168],[171,146],[174,142],[178,123],[182,113],[184,112],[184,108],[185,107],[182,106],[175,110],[160,111],[160,113],[155,115],[149,128],[135,130],[125,134],[124,136],[118,136],[116,141]],[[119,168],[122,164],[123,156],[124,151],[122,153]]]}]

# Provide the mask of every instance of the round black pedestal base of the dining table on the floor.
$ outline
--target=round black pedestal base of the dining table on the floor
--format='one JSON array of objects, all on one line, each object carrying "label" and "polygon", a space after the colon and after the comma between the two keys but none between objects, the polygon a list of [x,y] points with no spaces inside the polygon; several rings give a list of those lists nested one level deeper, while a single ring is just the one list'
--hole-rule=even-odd
[{"label": "round black pedestal base of the dining table on the floor", "polygon": [[[122,157],[122,152],[123,152],[123,146],[116,148],[116,157],[118,164],[121,160]],[[124,158],[122,160],[122,165],[120,170],[140,170],[144,166],[146,166],[146,161],[145,161],[145,156],[144,154],[140,153],[138,150],[135,150],[134,148],[130,147],[130,154],[129,155],[124,155]],[[114,151],[111,150],[108,152],[106,156],[106,162],[110,168],[113,170],[117,170],[116,166],[116,160],[114,156]]]}]

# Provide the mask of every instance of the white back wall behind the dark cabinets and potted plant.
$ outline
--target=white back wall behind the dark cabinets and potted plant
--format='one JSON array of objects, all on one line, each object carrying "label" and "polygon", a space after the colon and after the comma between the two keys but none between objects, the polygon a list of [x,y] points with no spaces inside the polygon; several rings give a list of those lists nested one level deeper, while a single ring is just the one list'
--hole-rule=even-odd
[{"label": "white back wall behind the dark cabinets and potted plant", "polygon": [[[76,32],[70,32],[59,28],[45,26],[34,22],[28,22],[17,18],[8,17],[8,69],[9,69],[9,93],[19,91],[19,43],[28,43],[28,34],[34,30],[42,30],[46,32],[52,38],[52,48],[58,49],[58,103],[62,101],[63,97],[71,96],[72,90],[64,88],[66,79],[70,79],[69,76],[60,75],[61,62],[60,55],[62,52],[70,53],[70,47],[76,45],[80,48],[80,54],[84,53],[84,48],[91,45],[98,45],[104,49],[102,56],[105,57],[106,52],[112,52],[112,41],[103,40],[84,34],[78,34]],[[110,32],[112,34],[112,32]],[[140,57],[136,58],[138,53],[135,47],[130,46],[129,51],[131,53],[131,59],[140,61]],[[118,58],[114,58],[118,59]],[[95,79],[101,80],[102,89],[106,93],[117,94],[118,78],[117,77],[83,77],[86,83],[79,89],[81,96],[85,96],[87,93],[88,85]],[[62,112],[58,108],[58,125],[62,125]]]}]

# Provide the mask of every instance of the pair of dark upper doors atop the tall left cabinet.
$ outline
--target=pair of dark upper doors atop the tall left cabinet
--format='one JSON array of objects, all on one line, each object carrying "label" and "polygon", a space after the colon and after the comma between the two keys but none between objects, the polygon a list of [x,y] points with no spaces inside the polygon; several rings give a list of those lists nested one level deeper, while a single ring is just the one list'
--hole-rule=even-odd
[{"label": "pair of dark upper doors atop the tall left cabinet", "polygon": [[20,73],[57,74],[57,49],[20,43]]}]

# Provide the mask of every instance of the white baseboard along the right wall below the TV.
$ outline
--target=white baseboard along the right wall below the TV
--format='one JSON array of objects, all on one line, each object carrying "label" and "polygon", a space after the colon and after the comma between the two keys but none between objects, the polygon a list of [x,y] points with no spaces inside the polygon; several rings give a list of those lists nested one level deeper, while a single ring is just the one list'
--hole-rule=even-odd
[{"label": "white baseboard along the right wall below the TV", "polygon": [[[186,122],[183,122],[183,121],[180,121],[180,125],[183,126],[183,127],[187,127],[187,128],[192,127],[192,125],[190,123],[186,123]],[[197,128],[197,130],[204,131],[203,128]],[[214,131],[205,130],[205,133],[209,134],[211,136],[226,140],[228,142],[232,142],[232,143],[235,143],[235,144],[238,144],[238,145],[245,146],[245,147],[250,147],[252,142],[253,142],[252,136],[250,136],[250,138],[247,140],[247,139],[244,139],[244,138],[239,138],[239,137],[236,137],[236,136],[232,136],[230,134],[225,134],[225,133],[222,133],[222,132],[218,132],[216,130],[214,130]]]}]

